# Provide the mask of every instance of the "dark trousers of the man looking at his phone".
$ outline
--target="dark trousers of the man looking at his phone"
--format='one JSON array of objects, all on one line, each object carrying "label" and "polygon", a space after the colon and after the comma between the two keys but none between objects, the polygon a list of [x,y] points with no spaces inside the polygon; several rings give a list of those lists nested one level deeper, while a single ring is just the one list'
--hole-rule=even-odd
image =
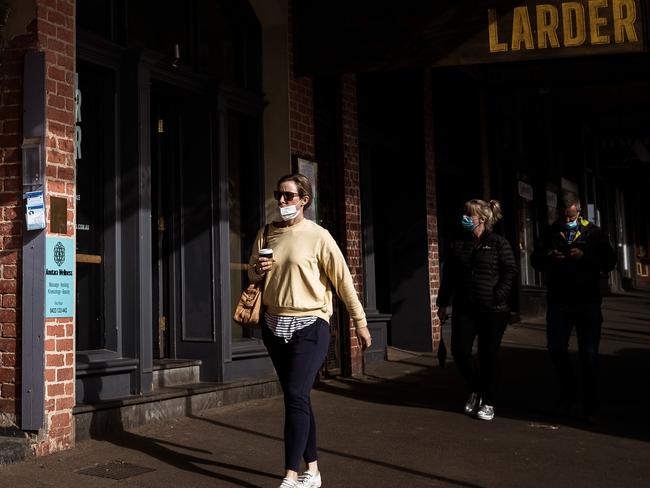
[{"label": "dark trousers of the man looking at his phone", "polygon": [[598,346],[602,323],[600,303],[548,303],[547,346],[560,383],[561,401],[566,408],[571,406],[578,390],[568,352],[574,326],[578,336],[583,407],[587,414],[599,407]]}]

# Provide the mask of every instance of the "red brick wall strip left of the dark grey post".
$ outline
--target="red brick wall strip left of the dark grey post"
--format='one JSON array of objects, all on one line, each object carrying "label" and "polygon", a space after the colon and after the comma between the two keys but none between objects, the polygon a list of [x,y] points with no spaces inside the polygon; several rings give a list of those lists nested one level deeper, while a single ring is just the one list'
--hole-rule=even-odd
[{"label": "red brick wall strip left of the dark grey post", "polygon": [[0,51],[0,413],[20,413],[22,276],[23,59],[34,49],[36,22],[5,39]]}]

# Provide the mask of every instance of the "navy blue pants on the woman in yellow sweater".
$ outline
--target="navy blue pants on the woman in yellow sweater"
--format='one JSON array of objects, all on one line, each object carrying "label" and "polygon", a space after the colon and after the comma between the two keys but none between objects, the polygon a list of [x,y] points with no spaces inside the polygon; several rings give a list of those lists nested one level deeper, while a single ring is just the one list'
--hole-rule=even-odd
[{"label": "navy blue pants on the woman in yellow sweater", "polygon": [[318,319],[294,332],[289,342],[263,326],[262,338],[284,392],[285,469],[300,471],[301,458],[305,463],[318,459],[310,393],[329,349],[329,324]]}]

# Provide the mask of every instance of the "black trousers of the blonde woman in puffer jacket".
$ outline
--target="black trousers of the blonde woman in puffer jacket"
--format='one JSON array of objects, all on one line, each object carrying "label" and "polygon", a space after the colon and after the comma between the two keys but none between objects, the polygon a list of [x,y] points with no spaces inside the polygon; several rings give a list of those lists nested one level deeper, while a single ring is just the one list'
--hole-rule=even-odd
[{"label": "black trousers of the blonde woman in puffer jacket", "polygon": [[[466,312],[454,308],[451,316],[451,353],[470,392],[483,403],[494,406],[497,400],[500,366],[499,348],[510,312]],[[478,368],[472,357],[478,336]]]}]

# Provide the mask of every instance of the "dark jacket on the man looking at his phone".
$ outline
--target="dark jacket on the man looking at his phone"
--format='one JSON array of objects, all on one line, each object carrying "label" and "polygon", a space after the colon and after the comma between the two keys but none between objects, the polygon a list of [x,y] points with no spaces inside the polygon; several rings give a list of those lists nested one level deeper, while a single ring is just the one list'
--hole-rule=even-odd
[{"label": "dark jacket on the man looking at his phone", "polygon": [[[554,250],[567,253],[572,247],[582,250],[580,259],[555,261]],[[576,236],[569,244],[567,230],[555,222],[542,234],[530,257],[531,264],[546,272],[548,301],[560,303],[600,303],[600,274],[616,266],[616,253],[607,235],[591,222],[580,219]]]}]

